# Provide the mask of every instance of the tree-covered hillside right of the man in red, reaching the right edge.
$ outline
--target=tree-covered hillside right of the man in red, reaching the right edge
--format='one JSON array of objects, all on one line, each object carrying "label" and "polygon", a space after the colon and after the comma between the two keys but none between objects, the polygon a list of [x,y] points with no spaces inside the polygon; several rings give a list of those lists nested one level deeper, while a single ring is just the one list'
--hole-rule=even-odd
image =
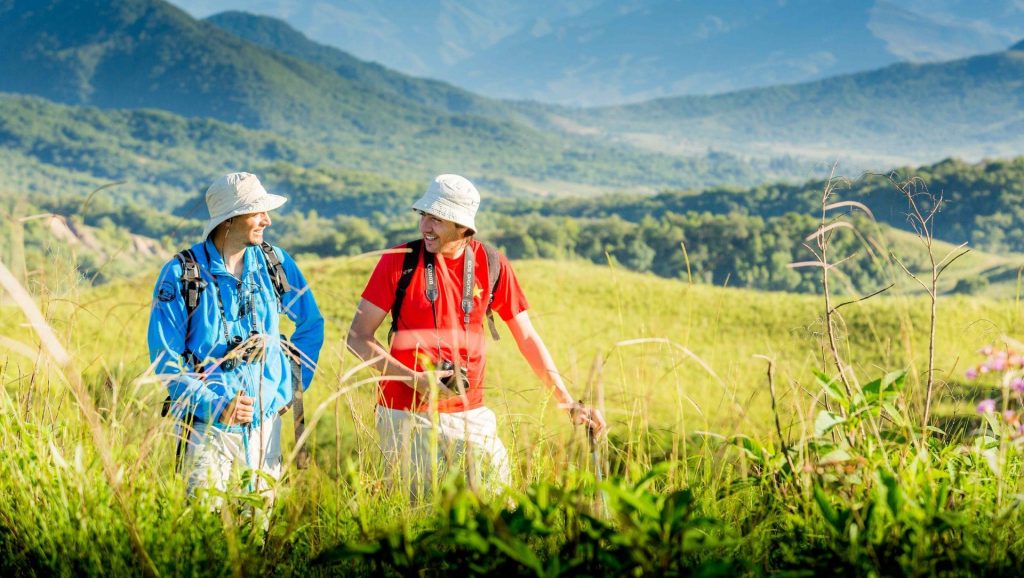
[{"label": "tree-covered hillside right of the man in red, reaching the right edge", "polygon": [[[861,202],[881,223],[876,226],[860,220],[857,228],[862,236],[837,235],[838,254],[860,254],[847,265],[860,290],[881,287],[874,281],[880,277],[902,277],[894,263],[886,262],[890,251],[911,266],[924,264],[921,244],[907,243],[905,239],[912,235],[900,233],[914,231],[907,218],[910,207],[906,194],[899,189],[904,187],[923,210],[942,200],[930,221],[935,239],[947,243],[937,251],[940,255],[966,242],[980,251],[977,262],[990,263],[976,270],[973,281],[964,279],[961,290],[983,291],[989,284],[1002,285],[993,290],[1007,295],[1010,286],[1017,283],[1015,263],[1024,253],[1022,182],[1024,158],[975,164],[946,160],[896,169],[890,175],[868,173],[838,179],[830,202]],[[740,286],[814,291],[817,284],[812,275],[801,277],[784,265],[810,256],[803,241],[818,225],[824,188],[824,180],[810,180],[745,190],[500,202],[497,210],[503,217],[496,223],[500,231],[497,239],[507,235],[506,246],[521,256],[574,254],[604,262],[610,254],[630,269],[666,277],[684,277],[689,271],[709,283],[731,279]],[[524,230],[529,234],[520,233]],[[873,240],[865,244],[864,236]],[[684,243],[688,255],[682,252]],[[868,244],[874,247],[868,248]],[[869,253],[874,256],[868,258]],[[687,257],[689,266],[684,262]],[[953,289],[961,281],[954,272],[947,278],[952,284],[943,285],[946,289]]]}]

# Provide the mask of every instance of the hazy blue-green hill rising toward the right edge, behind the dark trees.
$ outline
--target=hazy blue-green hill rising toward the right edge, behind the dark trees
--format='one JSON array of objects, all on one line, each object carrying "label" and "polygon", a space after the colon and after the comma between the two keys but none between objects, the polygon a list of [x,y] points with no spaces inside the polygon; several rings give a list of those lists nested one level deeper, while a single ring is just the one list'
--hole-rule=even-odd
[{"label": "hazy blue-green hill rising toward the right edge, behind the dark trees", "polygon": [[710,143],[885,167],[1024,151],[1024,42],[949,63],[898,64],[804,84],[616,108],[557,110],[556,126],[659,152]]}]

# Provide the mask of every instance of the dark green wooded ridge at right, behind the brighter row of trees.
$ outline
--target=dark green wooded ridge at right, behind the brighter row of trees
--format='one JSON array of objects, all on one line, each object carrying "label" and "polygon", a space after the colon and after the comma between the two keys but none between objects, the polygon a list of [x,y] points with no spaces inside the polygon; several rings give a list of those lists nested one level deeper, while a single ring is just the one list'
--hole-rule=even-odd
[{"label": "dark green wooded ridge at right, behind the brighter row of trees", "polygon": [[[902,167],[888,174],[864,174],[839,179],[838,199],[867,205],[876,218],[898,229],[910,230],[906,198],[896,184],[907,183],[918,201],[929,205],[928,194],[941,197],[935,217],[936,238],[992,252],[1024,252],[1024,157],[967,163],[945,160],[925,167]],[[503,203],[509,215],[543,214],[573,218],[618,217],[640,222],[663,215],[711,213],[777,217],[786,213],[820,213],[824,180],[801,184],[770,183],[753,189],[674,191],[653,196],[562,199],[557,202]]]}]

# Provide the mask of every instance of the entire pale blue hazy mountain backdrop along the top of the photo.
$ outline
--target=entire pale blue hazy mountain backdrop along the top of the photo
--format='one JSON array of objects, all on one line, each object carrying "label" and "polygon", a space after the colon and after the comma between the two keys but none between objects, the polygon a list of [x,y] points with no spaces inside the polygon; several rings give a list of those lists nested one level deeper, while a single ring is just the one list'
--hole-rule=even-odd
[{"label": "entire pale blue hazy mountain backdrop along the top of the photo", "polygon": [[489,96],[616,105],[941,61],[1024,38],[1017,0],[175,0]]}]

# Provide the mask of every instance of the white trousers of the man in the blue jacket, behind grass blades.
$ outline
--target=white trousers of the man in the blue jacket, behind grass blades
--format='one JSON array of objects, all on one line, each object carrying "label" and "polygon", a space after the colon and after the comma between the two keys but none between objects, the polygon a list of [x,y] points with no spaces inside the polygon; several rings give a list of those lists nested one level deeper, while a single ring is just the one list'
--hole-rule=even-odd
[{"label": "white trousers of the man in the blue jacket, behind grass blades", "polygon": [[252,491],[272,504],[274,487],[266,478],[280,480],[281,468],[281,416],[267,418],[248,434],[228,432],[206,422],[194,424],[184,459],[189,497],[216,490],[211,505],[220,507],[224,492]]}]

